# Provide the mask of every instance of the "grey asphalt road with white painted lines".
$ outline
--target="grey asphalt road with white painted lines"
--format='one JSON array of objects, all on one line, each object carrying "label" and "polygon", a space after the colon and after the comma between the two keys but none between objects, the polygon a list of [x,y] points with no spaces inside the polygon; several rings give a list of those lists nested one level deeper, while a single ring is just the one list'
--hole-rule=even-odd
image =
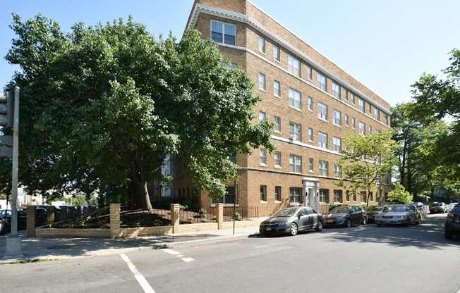
[{"label": "grey asphalt road with white painted lines", "polygon": [[249,237],[0,266],[0,292],[460,292],[445,215],[412,227]]}]

